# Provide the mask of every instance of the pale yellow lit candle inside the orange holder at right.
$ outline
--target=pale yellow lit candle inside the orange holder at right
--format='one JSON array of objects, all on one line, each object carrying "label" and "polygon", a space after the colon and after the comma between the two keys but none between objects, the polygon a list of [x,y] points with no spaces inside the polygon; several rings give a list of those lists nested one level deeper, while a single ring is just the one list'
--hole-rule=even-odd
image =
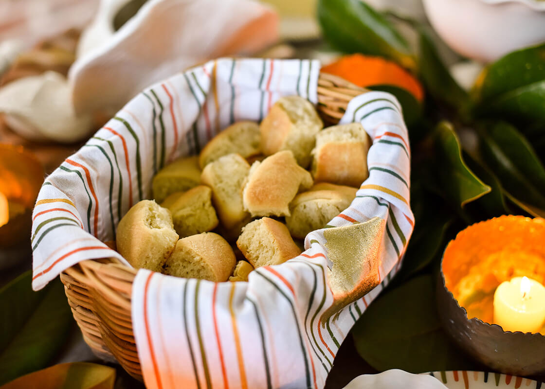
[{"label": "pale yellow lit candle inside the orange holder at right", "polygon": [[494,293],[494,323],[504,331],[539,332],[545,321],[545,287],[528,277],[506,281]]}]

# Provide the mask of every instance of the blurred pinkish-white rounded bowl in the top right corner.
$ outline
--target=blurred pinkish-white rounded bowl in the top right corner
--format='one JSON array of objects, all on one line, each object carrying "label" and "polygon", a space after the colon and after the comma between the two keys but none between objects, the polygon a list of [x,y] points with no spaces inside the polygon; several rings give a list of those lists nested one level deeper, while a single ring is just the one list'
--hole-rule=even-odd
[{"label": "blurred pinkish-white rounded bowl in the top right corner", "polygon": [[463,56],[492,62],[545,41],[545,2],[536,0],[423,0],[440,37]]}]

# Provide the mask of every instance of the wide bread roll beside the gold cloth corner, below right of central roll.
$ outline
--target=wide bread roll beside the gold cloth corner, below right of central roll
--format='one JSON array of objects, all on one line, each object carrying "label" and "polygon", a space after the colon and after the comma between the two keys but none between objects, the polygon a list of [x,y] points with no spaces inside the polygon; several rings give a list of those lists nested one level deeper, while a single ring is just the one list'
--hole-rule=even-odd
[{"label": "wide bread roll beside the gold cloth corner, below right of central roll", "polygon": [[319,183],[295,196],[289,205],[291,215],[286,217],[289,232],[302,239],[309,232],[324,228],[326,223],[348,208],[357,191],[350,186]]}]

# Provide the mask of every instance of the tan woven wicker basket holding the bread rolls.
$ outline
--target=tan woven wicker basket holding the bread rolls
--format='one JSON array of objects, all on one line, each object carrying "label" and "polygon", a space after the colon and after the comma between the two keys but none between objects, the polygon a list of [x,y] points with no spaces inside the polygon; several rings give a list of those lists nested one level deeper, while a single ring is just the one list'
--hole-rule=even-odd
[{"label": "tan woven wicker basket holding the bread rolls", "polygon": [[[366,92],[340,77],[320,74],[318,112],[336,124],[350,100]],[[85,260],[60,275],[83,339],[96,355],[116,361],[142,381],[131,319],[131,290],[136,269],[117,259]]]}]

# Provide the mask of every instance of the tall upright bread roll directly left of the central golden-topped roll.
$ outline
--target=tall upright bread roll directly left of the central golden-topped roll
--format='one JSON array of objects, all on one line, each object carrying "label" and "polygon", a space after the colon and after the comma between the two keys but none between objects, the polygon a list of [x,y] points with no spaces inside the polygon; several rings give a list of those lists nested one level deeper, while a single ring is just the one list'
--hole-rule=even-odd
[{"label": "tall upright bread roll directly left of the central golden-topped roll", "polygon": [[242,190],[250,172],[248,162],[238,154],[228,154],[209,163],[201,182],[212,189],[212,201],[223,227],[236,227],[248,213],[244,210]]}]

